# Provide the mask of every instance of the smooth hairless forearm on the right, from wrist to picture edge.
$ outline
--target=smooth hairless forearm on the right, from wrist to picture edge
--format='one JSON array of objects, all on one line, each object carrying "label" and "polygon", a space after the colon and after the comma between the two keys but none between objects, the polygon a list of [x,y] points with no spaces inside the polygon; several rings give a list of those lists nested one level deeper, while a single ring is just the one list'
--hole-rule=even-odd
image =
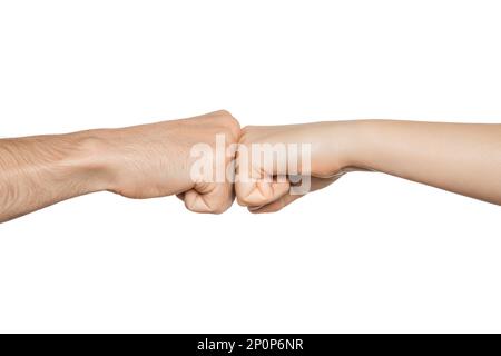
[{"label": "smooth hairless forearm on the right, from wrist to picture edge", "polygon": [[348,165],[501,205],[501,125],[354,121]]}]

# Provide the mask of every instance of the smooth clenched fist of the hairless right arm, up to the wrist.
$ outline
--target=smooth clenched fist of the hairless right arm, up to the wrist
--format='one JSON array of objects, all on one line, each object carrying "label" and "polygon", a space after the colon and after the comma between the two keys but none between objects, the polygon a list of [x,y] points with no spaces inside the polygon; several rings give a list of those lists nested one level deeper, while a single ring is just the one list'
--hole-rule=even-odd
[{"label": "smooth clenched fist of the hairless right arm, up to the wrist", "polygon": [[277,211],[347,170],[343,122],[248,126],[242,130],[235,191],[252,212]]}]

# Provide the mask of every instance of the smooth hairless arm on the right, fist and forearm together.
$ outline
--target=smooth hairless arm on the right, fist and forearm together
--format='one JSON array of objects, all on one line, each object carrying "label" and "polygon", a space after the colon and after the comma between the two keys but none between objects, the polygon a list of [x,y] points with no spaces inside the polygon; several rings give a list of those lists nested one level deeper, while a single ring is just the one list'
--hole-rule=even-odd
[{"label": "smooth hairless arm on the right, fist and forearm together", "polygon": [[[374,170],[501,205],[501,125],[358,120],[242,130],[246,151],[263,142],[312,145],[312,191],[348,171]],[[235,191],[252,212],[278,211],[303,196],[291,195],[288,181],[269,181],[287,176],[286,165],[237,157],[237,176],[242,167],[246,174]]]}]

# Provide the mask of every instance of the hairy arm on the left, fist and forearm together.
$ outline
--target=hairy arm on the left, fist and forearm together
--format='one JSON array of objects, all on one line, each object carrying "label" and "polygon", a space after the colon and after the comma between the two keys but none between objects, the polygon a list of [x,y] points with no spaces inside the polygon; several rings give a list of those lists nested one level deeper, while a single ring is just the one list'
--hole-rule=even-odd
[{"label": "hairy arm on the left, fist and forearm together", "polygon": [[[234,200],[225,179],[193,180],[196,144],[216,135],[236,144],[239,125],[227,111],[120,129],[0,140],[0,222],[96,191],[146,199],[177,195],[186,208],[219,214]],[[233,155],[224,157],[227,165]]]}]

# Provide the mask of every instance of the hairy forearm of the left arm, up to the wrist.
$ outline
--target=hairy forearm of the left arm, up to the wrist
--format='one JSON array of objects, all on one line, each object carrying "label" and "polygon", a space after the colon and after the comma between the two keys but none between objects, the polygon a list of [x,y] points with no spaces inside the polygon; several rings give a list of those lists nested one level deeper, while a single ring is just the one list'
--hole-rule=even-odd
[{"label": "hairy forearm of the left arm, up to the wrist", "polygon": [[0,222],[106,188],[97,131],[0,140]]}]

